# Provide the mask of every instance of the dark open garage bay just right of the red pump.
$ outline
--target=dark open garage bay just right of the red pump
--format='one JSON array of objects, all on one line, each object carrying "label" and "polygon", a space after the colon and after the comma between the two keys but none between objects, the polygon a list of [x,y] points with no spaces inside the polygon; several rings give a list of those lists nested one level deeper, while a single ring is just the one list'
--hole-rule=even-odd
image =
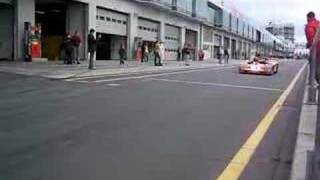
[{"label": "dark open garage bay just right of the red pump", "polygon": [[[87,34],[87,5],[75,1],[36,0],[35,22],[41,24],[42,57],[61,59],[61,44],[67,33],[78,31],[82,41]],[[85,58],[85,43],[80,46],[80,58]]]}]

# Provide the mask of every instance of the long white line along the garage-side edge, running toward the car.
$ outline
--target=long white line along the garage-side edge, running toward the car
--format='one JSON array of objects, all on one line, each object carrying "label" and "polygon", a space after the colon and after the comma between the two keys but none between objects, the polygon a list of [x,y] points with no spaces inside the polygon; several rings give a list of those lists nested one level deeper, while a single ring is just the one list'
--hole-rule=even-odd
[{"label": "long white line along the garage-side edge, running toward the car", "polygon": [[[159,77],[159,76],[169,76],[169,75],[175,75],[175,74],[186,74],[186,73],[192,73],[192,72],[200,72],[200,71],[212,71],[212,70],[223,70],[223,69],[232,69],[235,68],[235,66],[230,67],[222,67],[222,68],[214,68],[214,69],[197,69],[197,70],[189,70],[189,71],[181,71],[181,72],[169,72],[169,73],[161,73],[161,74],[149,74],[149,75],[142,75],[142,76],[132,76],[132,77],[121,77],[121,78],[113,78],[113,79],[102,79],[102,80],[96,80],[96,81],[85,81],[82,80],[81,82],[88,82],[88,83],[101,83],[101,82],[114,82],[114,81],[125,81],[125,80],[133,80],[133,79],[144,79],[144,78],[151,78],[151,77]],[[70,81],[70,80],[69,80]],[[78,82],[77,80],[75,80]]]}]

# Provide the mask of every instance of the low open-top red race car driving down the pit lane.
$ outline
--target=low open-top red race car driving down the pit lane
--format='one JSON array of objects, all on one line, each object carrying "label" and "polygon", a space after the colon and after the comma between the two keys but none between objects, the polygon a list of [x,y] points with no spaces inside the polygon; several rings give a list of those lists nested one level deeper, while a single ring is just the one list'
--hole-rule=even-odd
[{"label": "low open-top red race car driving down the pit lane", "polygon": [[253,58],[252,61],[247,61],[239,67],[241,74],[265,74],[273,75],[279,70],[279,63],[276,60],[268,58]]}]

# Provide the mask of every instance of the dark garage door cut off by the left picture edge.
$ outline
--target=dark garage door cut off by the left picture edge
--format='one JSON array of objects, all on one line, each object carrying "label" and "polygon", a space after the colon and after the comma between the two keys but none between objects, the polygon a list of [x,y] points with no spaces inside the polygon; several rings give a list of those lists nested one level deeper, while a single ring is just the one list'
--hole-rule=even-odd
[{"label": "dark garage door cut off by the left picture edge", "polygon": [[12,58],[12,14],[10,6],[0,4],[0,59]]}]

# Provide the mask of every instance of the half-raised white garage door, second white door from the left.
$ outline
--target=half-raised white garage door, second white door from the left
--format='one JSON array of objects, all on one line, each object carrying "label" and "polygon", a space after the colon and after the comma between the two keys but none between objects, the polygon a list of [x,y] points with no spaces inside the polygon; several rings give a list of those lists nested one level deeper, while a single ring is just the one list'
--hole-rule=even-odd
[{"label": "half-raised white garage door, second white door from the left", "polygon": [[159,39],[159,23],[147,19],[138,19],[138,37],[143,41],[157,41]]}]

